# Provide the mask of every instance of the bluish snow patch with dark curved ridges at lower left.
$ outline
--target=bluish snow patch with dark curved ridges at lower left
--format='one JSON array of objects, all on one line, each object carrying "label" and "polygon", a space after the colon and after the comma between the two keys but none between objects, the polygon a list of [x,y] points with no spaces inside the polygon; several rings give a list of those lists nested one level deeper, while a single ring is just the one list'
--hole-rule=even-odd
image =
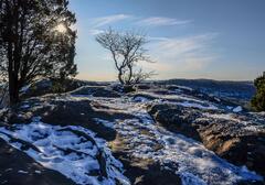
[{"label": "bluish snow patch with dark curved ridges at lower left", "polygon": [[114,159],[106,142],[82,127],[33,121],[10,130],[0,128],[0,137],[44,167],[59,171],[77,184],[129,184],[123,175],[123,164]]}]

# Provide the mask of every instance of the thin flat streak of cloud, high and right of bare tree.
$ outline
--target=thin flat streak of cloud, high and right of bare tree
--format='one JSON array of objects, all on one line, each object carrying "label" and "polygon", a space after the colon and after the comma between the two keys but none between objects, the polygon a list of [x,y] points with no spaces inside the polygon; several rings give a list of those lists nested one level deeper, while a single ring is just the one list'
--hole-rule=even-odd
[{"label": "thin flat streak of cloud, high and right of bare tree", "polygon": [[183,25],[191,23],[191,20],[178,20],[172,18],[165,17],[150,17],[146,19],[141,19],[136,23],[138,25],[147,25],[147,26],[162,26],[162,25]]}]

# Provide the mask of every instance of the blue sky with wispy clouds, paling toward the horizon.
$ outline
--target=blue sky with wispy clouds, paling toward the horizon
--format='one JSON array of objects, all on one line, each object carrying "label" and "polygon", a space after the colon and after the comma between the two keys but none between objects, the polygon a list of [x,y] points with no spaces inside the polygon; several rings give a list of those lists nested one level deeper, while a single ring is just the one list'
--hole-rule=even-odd
[{"label": "blue sky with wispy clouds, paling toward the horizon", "polygon": [[265,0],[70,0],[77,19],[77,78],[115,80],[96,41],[112,26],[147,35],[153,79],[253,80],[265,70]]}]

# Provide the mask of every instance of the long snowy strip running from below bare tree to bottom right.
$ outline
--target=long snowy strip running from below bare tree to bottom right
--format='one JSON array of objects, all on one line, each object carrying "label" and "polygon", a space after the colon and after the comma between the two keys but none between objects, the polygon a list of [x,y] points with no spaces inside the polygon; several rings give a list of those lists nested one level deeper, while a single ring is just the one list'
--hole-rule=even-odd
[{"label": "long snowy strip running from below bare tree to bottom right", "polygon": [[[120,108],[138,117],[138,119],[116,120],[108,123],[129,141],[127,144],[132,155],[160,161],[162,164],[177,164],[176,173],[181,176],[184,185],[232,185],[240,181],[262,179],[246,167],[237,167],[220,159],[200,142],[158,127],[142,108],[142,102],[127,100],[128,102],[124,99],[120,104],[120,99],[116,101],[97,99],[100,104]],[[106,120],[97,121],[106,124]]]}]

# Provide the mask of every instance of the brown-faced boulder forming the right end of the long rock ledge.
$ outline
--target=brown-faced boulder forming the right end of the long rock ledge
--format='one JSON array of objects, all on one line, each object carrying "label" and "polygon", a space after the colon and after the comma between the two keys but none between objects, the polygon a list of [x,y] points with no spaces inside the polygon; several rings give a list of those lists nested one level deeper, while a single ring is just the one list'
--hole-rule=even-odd
[{"label": "brown-faced boulder forming the right end of the long rock ledge", "polygon": [[250,170],[265,175],[264,127],[255,129],[255,126],[215,119],[198,131],[209,150],[236,165],[246,165]]}]

